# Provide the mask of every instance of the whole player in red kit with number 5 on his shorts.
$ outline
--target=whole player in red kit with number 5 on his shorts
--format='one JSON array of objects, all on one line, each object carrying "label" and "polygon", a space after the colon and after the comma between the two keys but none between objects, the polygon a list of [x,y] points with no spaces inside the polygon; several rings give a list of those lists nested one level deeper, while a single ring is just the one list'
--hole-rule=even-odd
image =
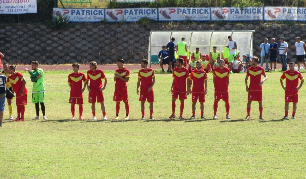
[{"label": "whole player in red kit with number 5 on his shorts", "polygon": [[225,102],[226,119],[230,119],[230,102],[229,102],[229,83],[230,83],[230,69],[224,66],[224,60],[219,60],[219,67],[213,70],[215,86],[215,102],[214,102],[214,117],[217,119],[218,102],[222,99]]}]

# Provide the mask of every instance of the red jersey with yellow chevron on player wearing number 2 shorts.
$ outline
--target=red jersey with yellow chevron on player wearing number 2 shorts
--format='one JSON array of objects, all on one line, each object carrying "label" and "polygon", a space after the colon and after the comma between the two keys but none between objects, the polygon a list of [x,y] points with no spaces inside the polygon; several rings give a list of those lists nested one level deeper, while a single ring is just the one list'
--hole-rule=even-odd
[{"label": "red jersey with yellow chevron on player wearing number 2 shorts", "polygon": [[203,93],[205,91],[204,81],[207,80],[207,73],[203,70],[194,69],[190,73],[190,80],[193,80],[192,83],[192,92],[193,93]]}]

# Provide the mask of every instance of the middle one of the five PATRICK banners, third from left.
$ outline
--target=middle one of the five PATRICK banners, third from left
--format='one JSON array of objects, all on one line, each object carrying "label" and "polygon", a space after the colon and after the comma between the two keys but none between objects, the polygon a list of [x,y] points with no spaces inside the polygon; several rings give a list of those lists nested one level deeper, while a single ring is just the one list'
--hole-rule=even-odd
[{"label": "middle one of the five PATRICK banners, third from left", "polygon": [[159,8],[159,21],[209,21],[210,8],[167,7]]}]

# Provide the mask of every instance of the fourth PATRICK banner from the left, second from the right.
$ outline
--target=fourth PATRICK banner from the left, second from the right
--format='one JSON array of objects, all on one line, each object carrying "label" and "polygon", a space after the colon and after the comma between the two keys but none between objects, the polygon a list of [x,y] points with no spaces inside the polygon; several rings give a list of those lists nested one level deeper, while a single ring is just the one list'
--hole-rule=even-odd
[{"label": "fourth PATRICK banner from the left, second from the right", "polygon": [[212,7],[212,21],[262,21],[262,7]]}]

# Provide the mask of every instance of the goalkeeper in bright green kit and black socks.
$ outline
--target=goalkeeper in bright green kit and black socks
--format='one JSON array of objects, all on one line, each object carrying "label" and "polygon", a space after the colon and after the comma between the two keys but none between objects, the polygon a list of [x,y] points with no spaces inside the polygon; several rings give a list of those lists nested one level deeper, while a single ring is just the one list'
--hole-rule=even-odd
[{"label": "goalkeeper in bright green kit and black socks", "polygon": [[41,111],[43,113],[43,119],[47,120],[46,114],[45,114],[45,104],[44,104],[44,98],[45,98],[45,85],[43,83],[43,69],[38,68],[39,63],[37,61],[33,61],[31,63],[32,70],[24,69],[24,71],[27,71],[31,76],[31,81],[33,82],[33,88],[32,88],[32,103],[35,103],[35,111],[36,111],[36,117],[33,120],[38,120],[39,118],[39,103],[41,107]]}]

